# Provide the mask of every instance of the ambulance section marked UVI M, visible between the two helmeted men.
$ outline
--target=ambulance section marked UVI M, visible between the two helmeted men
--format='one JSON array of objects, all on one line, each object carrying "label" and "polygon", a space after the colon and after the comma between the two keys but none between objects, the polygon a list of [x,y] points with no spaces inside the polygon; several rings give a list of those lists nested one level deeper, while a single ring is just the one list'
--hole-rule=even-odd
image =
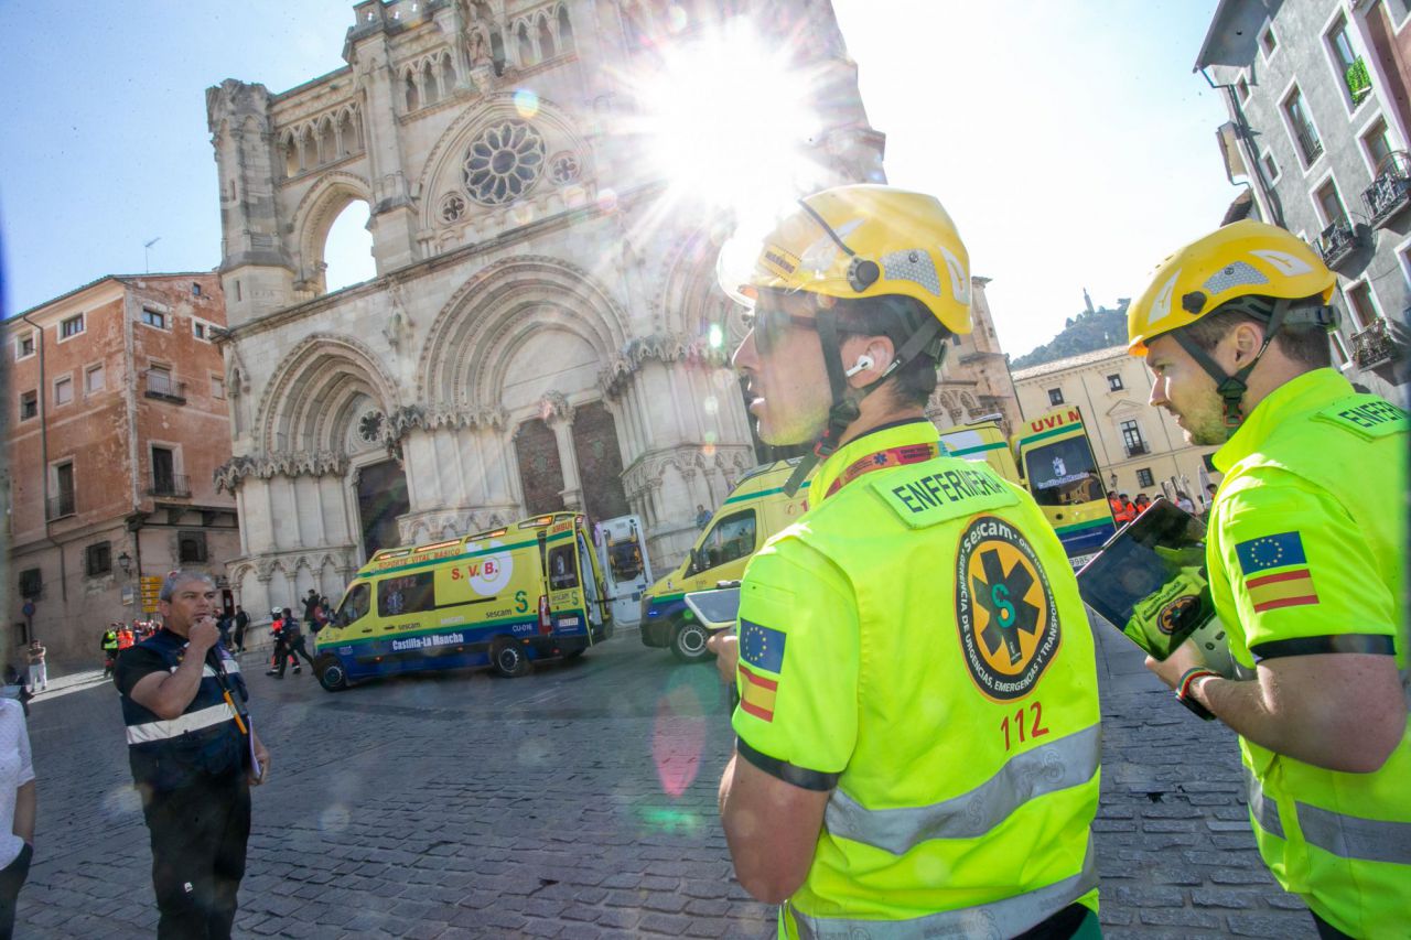
[{"label": "ambulance section marked UVI M, visible between the two helmeted men", "polygon": [[1085,565],[1118,531],[1077,406],[1027,421],[1009,440],[996,422],[982,421],[943,430],[941,442],[952,457],[983,460],[1029,490],[1074,567]]}]

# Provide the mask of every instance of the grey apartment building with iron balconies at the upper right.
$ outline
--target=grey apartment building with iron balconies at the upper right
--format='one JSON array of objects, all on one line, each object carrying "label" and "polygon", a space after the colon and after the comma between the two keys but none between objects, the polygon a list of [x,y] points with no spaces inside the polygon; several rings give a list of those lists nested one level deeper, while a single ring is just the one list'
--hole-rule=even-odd
[{"label": "grey apartment building with iron balconies at the upper right", "polygon": [[1283,226],[1338,272],[1335,366],[1405,401],[1411,308],[1411,4],[1222,0],[1195,68],[1225,95],[1219,145],[1247,185],[1226,222]]}]

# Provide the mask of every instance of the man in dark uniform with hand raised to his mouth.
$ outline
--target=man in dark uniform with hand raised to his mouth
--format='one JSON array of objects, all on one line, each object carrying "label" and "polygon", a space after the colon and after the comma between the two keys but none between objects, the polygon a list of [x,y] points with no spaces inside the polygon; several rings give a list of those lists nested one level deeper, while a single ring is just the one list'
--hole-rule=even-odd
[{"label": "man in dark uniform with hand raised to his mouth", "polygon": [[214,604],[209,576],[169,574],[158,596],[162,629],[124,649],[114,676],[151,831],[159,940],[230,936],[246,871],[250,785],[270,768],[246,711],[240,666],[216,645]]}]

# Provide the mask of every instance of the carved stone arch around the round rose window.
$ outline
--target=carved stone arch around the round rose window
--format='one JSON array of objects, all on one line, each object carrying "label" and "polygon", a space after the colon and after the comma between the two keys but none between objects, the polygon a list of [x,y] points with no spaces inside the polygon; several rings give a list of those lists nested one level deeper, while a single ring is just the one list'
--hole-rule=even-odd
[{"label": "carved stone arch around the round rose window", "polygon": [[[481,99],[477,107],[467,109],[460,117],[452,121],[450,127],[440,135],[432,147],[422,171],[416,176],[419,192],[428,193],[420,205],[420,224],[423,229],[435,229],[439,223],[437,209],[440,195],[449,189],[460,189],[460,164],[466,148],[485,127],[501,120],[525,120],[515,106],[514,93],[497,92]],[[553,154],[560,150],[570,150],[579,161],[579,179],[593,176],[593,148],[579,131],[569,113],[550,99],[539,99],[539,113],[529,120],[535,130],[545,138],[546,152]],[[542,183],[540,178],[540,183]],[[540,183],[526,193],[533,198],[539,192]]]}]

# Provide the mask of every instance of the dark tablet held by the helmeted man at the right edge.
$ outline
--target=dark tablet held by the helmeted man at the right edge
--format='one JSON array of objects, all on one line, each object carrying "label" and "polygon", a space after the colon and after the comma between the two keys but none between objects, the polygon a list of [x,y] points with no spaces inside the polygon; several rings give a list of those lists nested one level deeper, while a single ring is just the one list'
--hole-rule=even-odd
[{"label": "dark tablet held by the helmeted man at the right edge", "polygon": [[1127,639],[1165,659],[1215,620],[1205,524],[1157,497],[1078,572],[1078,591]]}]

